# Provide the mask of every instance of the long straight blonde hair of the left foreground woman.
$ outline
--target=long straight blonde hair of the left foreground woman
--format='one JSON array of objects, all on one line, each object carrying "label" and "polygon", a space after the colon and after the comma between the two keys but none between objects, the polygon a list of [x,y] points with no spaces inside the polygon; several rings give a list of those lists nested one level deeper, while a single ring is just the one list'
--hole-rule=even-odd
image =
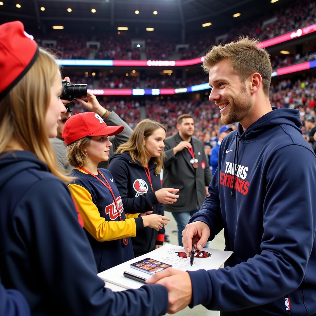
[{"label": "long straight blonde hair of the left foreground woman", "polygon": [[58,65],[49,52],[39,56],[22,79],[0,100],[0,153],[15,140],[46,163],[51,173],[68,182],[59,170],[46,131],[46,111]]}]

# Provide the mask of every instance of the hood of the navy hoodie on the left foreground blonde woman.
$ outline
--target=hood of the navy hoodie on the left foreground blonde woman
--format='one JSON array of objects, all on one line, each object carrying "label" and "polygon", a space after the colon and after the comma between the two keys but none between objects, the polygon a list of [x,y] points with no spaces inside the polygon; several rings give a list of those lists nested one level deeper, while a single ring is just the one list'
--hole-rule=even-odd
[{"label": "hood of the navy hoodie on the left foreground blonde woman", "polygon": [[3,152],[0,154],[0,189],[16,174],[27,169],[49,171],[47,165],[26,150]]}]

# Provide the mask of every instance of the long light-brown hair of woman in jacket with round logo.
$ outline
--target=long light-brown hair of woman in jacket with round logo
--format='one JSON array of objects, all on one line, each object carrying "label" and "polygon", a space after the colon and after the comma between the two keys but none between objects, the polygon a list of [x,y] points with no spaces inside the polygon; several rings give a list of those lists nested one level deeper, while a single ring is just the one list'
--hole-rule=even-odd
[{"label": "long light-brown hair of woman in jacket with round logo", "polygon": [[[158,130],[159,128],[162,128],[167,134],[166,128],[158,122],[152,121],[150,119],[144,119],[140,121],[136,125],[131,138],[125,144],[120,145],[116,152],[124,153],[125,151],[128,151],[131,155],[132,161],[136,162],[138,160],[143,167],[146,167],[146,149],[143,138],[149,137],[155,130]],[[155,168],[155,174],[159,174],[161,172],[164,155],[165,153],[162,150],[162,155],[153,158],[154,163],[157,166]]]}]

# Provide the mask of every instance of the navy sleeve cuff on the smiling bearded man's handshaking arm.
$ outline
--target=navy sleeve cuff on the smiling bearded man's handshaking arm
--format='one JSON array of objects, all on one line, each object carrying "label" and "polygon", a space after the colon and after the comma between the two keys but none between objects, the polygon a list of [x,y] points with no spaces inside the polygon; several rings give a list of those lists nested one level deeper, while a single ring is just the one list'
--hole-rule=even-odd
[{"label": "navy sleeve cuff on the smiling bearded man's handshaking arm", "polygon": [[186,271],[189,273],[192,284],[192,301],[189,307],[196,305],[207,305],[212,298],[212,287],[210,276],[206,270]]}]

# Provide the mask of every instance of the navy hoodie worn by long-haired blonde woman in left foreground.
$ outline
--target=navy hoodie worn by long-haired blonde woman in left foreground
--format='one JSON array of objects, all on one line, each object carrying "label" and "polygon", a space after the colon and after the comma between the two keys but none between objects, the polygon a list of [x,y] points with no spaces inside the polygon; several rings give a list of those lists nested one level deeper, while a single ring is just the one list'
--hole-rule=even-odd
[{"label": "navy hoodie worn by long-haired blonde woman in left foreground", "polygon": [[27,151],[0,154],[0,273],[32,315],[163,315],[167,289],[145,285],[112,292],[66,185]]}]

